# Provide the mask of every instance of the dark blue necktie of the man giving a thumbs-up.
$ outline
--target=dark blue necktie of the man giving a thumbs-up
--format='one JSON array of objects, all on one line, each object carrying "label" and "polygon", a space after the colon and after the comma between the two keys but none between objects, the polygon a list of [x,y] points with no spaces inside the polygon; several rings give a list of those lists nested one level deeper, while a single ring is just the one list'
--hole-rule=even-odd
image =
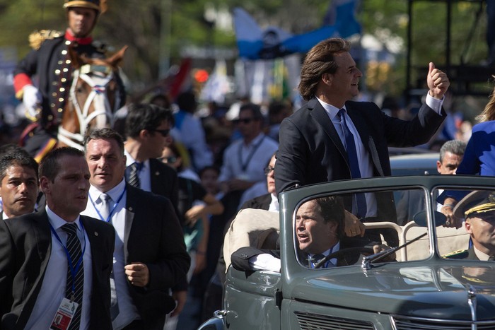
[{"label": "dark blue necktie of the man giving a thumbs-up", "polygon": [[[349,162],[349,167],[351,167],[351,178],[359,179],[361,177],[361,171],[359,170],[358,154],[356,151],[356,143],[354,143],[354,136],[347,126],[346,110],[339,110],[340,125],[342,126],[342,131],[344,132],[344,138],[346,141],[347,149],[347,160]],[[356,214],[358,218],[366,217],[366,198],[364,193],[354,194],[354,200],[352,203],[353,213]],[[357,213],[356,213],[357,211]]]}]

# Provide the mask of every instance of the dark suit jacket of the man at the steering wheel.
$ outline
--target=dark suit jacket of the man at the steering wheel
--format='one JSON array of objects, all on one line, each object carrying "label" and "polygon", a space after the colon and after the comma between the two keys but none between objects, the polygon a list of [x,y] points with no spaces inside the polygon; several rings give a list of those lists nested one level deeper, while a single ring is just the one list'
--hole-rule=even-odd
[{"label": "dark suit jacket of the man at the steering wheel", "polygon": [[[373,249],[373,245],[378,244],[362,238],[344,237],[340,241],[340,250],[349,249],[351,247],[369,247]],[[252,271],[249,265],[249,259],[255,257],[258,254],[268,253],[276,258],[280,258],[280,250],[265,250],[257,249],[256,247],[241,247],[237,251],[233,252],[231,256],[232,266],[238,271]],[[301,252],[301,259],[307,259],[307,254]],[[350,266],[356,264],[361,259],[362,254],[360,252],[349,252],[341,254],[337,257],[337,266]]]}]

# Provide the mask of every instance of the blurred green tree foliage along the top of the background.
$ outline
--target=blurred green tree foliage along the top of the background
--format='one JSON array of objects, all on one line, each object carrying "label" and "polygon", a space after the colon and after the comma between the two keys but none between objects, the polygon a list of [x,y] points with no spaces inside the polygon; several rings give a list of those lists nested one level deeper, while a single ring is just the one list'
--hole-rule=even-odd
[{"label": "blurred green tree foliage along the top of the background", "polygon": [[[413,2],[412,64],[426,66],[429,61],[444,64],[447,1]],[[452,62],[459,64],[461,55],[464,62],[480,61],[487,50],[484,45],[485,15],[476,16],[479,2],[451,2]],[[401,86],[405,86],[408,3],[407,0],[361,0],[359,7],[364,33],[371,33],[383,41],[391,37],[404,40],[399,61],[390,71],[388,83],[381,86],[391,93],[400,93]],[[160,78],[158,72],[163,47],[167,47],[171,64],[180,62],[182,49],[191,45],[235,49],[233,31],[219,30],[205,20],[207,5],[223,6],[229,10],[242,6],[264,27],[276,25],[291,33],[303,33],[321,25],[330,1],[107,0],[107,4],[108,11],[100,16],[95,28],[95,39],[115,49],[129,45],[124,71],[130,81],[147,85]],[[66,28],[62,5],[63,0],[0,0],[0,28],[8,32],[0,34],[0,45],[16,47],[18,56],[23,57],[29,51],[27,40],[33,30]],[[166,26],[170,28],[164,28]]]}]

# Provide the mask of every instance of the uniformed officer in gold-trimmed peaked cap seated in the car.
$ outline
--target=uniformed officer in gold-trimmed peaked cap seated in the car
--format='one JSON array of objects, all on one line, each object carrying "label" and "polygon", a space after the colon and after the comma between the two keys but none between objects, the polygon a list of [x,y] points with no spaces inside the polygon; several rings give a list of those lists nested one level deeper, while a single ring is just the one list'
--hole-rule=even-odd
[{"label": "uniformed officer in gold-trimmed peaked cap seated in the car", "polygon": [[444,257],[493,261],[495,256],[495,193],[472,191],[455,206],[456,218],[465,218],[464,227],[470,234],[472,246]]}]

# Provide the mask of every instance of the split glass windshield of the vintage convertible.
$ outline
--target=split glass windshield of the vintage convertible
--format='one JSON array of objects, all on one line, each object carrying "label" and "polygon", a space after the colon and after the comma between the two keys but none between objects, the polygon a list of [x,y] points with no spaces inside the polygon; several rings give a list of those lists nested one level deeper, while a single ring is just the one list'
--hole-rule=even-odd
[{"label": "split glass windshield of the vintage convertible", "polygon": [[[449,216],[441,213],[445,210],[439,201]],[[366,226],[364,237],[352,225],[357,219]],[[435,235],[429,235],[430,221]],[[449,187],[318,194],[296,208],[293,243],[296,259],[308,269],[361,264],[364,256],[403,244],[380,262],[418,261],[431,254],[487,260],[484,256],[493,255],[487,247],[495,247],[495,194],[492,198],[489,190]]]}]

